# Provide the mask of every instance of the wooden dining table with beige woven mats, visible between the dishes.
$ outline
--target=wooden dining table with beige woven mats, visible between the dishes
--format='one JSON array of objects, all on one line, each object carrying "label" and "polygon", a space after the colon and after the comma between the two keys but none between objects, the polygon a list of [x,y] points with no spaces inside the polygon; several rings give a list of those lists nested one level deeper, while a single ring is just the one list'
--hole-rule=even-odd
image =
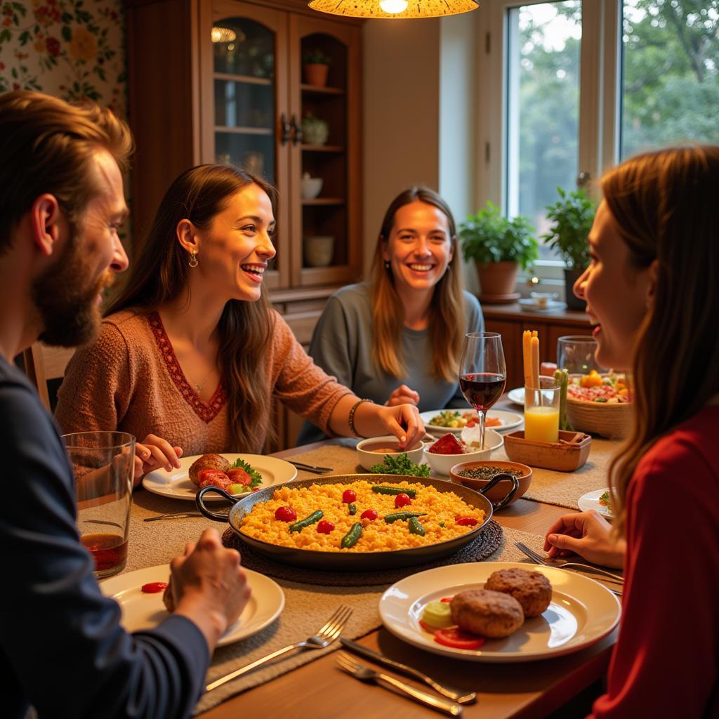
[{"label": "wooden dining table with beige woven mats, visible between the dishes", "polygon": [[[498,407],[510,408],[507,400]],[[511,407],[517,411],[516,407]],[[521,412],[521,408],[518,410]],[[355,440],[329,439],[273,454],[280,459],[294,459],[308,464],[332,467],[334,474],[352,474],[364,470],[357,464]],[[500,546],[487,561],[528,562],[514,546],[515,541],[540,551],[547,528],[559,516],[577,512],[577,500],[587,492],[606,485],[610,457],[617,441],[592,438],[589,458],[574,472],[554,472],[534,468],[526,494],[494,515],[501,527]],[[504,448],[493,459],[507,459]],[[316,477],[299,471],[298,478]],[[125,572],[164,564],[183,551],[184,543],[196,539],[206,526],[226,529],[202,517],[188,516],[165,521],[147,521],[165,512],[194,510],[194,505],[158,497],[147,491],[135,493],[132,508],[129,557]],[[226,533],[227,536],[227,533]],[[232,545],[231,545],[232,546]],[[531,566],[531,562],[528,562]],[[411,646],[383,628],[377,610],[378,598],[392,583],[357,586],[345,583],[332,586],[331,580],[303,575],[303,569],[289,568],[275,581],[285,593],[285,609],[278,619],[257,635],[232,646],[217,649],[211,662],[209,680],[221,677],[248,661],[274,651],[289,641],[301,641],[319,628],[317,618],[329,618],[340,604],[354,607],[352,621],[343,636],[408,664],[464,690],[477,692],[477,701],[463,707],[464,717],[500,719],[509,717],[544,717],[567,705],[574,697],[595,687],[607,672],[617,629],[595,644],[572,654],[519,663],[462,661],[439,656]],[[406,575],[412,574],[408,567]],[[320,572],[321,576],[321,572]],[[160,577],[161,579],[162,577]],[[381,581],[381,580],[378,580]],[[308,630],[309,628],[309,630]],[[298,717],[312,719],[361,715],[363,719],[392,716],[393,719],[436,716],[435,711],[406,697],[357,681],[342,672],[336,663],[334,642],[321,651],[304,651],[298,657],[280,660],[276,665],[258,669],[237,682],[229,682],[201,697],[195,715],[203,719],[234,719],[237,716]],[[359,663],[380,669],[413,687],[427,690],[421,682],[396,674],[392,669],[353,655]]]}]

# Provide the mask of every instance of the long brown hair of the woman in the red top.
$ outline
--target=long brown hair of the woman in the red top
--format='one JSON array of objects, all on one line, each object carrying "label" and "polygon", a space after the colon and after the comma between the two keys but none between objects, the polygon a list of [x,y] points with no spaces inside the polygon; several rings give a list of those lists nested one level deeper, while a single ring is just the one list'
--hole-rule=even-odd
[{"label": "long brown hair of the woman in the red top", "polygon": [[636,268],[658,261],[654,298],[633,347],[631,434],[610,465],[615,531],[642,455],[719,392],[719,146],[672,147],[610,170],[602,191]]}]

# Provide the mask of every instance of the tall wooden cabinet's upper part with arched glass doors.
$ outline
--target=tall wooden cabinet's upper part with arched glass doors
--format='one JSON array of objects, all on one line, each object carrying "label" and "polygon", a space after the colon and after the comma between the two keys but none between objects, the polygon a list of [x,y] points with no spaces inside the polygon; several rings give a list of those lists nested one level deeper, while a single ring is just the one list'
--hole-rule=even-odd
[{"label": "tall wooden cabinet's upper part with arched glass doors", "polygon": [[[357,280],[359,23],[290,0],[132,0],[127,27],[135,242],[180,172],[203,162],[245,165],[279,191],[278,254],[267,287]],[[331,59],[326,86],[303,83],[302,58],[312,50]],[[308,114],[326,122],[324,141],[303,137]],[[303,197],[303,173],[322,180],[319,196]],[[324,252],[303,251],[306,244],[324,244]]]}]

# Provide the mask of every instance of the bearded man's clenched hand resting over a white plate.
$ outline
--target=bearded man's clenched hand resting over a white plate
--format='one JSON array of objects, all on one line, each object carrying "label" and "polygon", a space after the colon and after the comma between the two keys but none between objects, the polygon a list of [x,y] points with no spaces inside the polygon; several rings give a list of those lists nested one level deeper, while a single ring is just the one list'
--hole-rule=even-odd
[{"label": "bearded man's clenched hand resting over a white plate", "polygon": [[226,549],[216,529],[206,529],[196,544],[185,547],[182,557],[170,562],[170,570],[175,614],[198,626],[211,652],[252,593],[239,552]]}]

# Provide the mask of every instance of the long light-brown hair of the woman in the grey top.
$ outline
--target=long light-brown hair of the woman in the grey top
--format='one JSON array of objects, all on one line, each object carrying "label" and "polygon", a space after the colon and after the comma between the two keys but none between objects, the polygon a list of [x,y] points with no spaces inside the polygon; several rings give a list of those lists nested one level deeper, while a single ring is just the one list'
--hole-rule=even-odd
[{"label": "long light-brown hair of the woman in the grey top", "polygon": [[454,248],[454,257],[447,270],[434,286],[429,306],[429,339],[432,357],[429,365],[431,375],[437,380],[454,382],[459,371],[459,353],[467,321],[462,296],[462,273],[457,252],[457,231],[452,210],[434,191],[426,187],[413,186],[400,192],[390,203],[382,221],[377,249],[372,260],[372,361],[382,367],[388,375],[400,377],[405,372],[401,353],[402,328],[405,315],[395,288],[391,267],[385,267],[383,246],[389,241],[398,209],[411,202],[434,205],[446,216],[449,226],[449,241]]}]

